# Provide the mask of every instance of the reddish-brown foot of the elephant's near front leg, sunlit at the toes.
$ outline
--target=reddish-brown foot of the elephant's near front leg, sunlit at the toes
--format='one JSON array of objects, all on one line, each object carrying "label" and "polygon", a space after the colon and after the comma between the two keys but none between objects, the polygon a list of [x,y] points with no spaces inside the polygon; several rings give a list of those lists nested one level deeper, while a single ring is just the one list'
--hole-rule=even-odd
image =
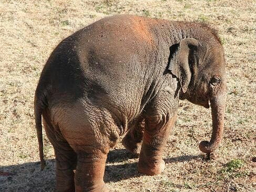
[{"label": "reddish-brown foot of the elephant's near front leg, sunlit at the toes", "polygon": [[157,175],[161,174],[164,171],[165,163],[163,159],[158,159],[154,162],[143,161],[140,157],[138,163],[138,171],[147,175]]}]

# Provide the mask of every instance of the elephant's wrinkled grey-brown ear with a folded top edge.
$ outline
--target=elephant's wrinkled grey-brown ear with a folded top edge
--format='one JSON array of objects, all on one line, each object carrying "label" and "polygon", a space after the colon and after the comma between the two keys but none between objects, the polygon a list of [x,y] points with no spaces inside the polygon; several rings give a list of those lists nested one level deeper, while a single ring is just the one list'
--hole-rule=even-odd
[{"label": "elephant's wrinkled grey-brown ear with a folded top edge", "polygon": [[183,93],[187,91],[191,79],[189,54],[194,54],[199,44],[200,43],[194,38],[185,38],[176,45],[178,47],[174,53],[172,53],[172,48],[170,48],[172,56],[168,69],[179,79]]}]

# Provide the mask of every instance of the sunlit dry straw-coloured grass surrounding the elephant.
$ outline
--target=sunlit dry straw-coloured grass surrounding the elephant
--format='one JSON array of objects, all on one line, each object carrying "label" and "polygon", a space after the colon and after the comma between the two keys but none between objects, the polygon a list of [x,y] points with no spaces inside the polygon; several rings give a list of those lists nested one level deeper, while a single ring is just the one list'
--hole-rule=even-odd
[{"label": "sunlit dry straw-coloured grass surrounding the elephant", "polygon": [[62,38],[120,13],[204,21],[219,29],[226,51],[228,98],[225,133],[214,160],[205,161],[198,149],[198,143],[211,135],[210,110],[180,102],[163,174],[139,174],[138,160],[118,145],[107,163],[109,189],[256,191],[255,0],[0,0],[0,191],[54,191],[54,154],[46,138],[46,169],[39,171],[38,164],[33,100],[39,75]]}]

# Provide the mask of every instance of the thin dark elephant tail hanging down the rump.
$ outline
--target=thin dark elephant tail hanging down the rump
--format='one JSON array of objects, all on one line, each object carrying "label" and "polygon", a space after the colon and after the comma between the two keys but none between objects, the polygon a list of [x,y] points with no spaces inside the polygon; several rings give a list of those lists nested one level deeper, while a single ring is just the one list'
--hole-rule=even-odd
[{"label": "thin dark elephant tail hanging down the rump", "polygon": [[42,113],[45,107],[47,106],[45,94],[39,94],[36,90],[35,100],[34,100],[34,113],[35,113],[35,122],[36,122],[36,132],[39,145],[39,156],[41,161],[41,170],[45,167],[44,161],[44,151],[43,151],[43,133],[42,133]]}]

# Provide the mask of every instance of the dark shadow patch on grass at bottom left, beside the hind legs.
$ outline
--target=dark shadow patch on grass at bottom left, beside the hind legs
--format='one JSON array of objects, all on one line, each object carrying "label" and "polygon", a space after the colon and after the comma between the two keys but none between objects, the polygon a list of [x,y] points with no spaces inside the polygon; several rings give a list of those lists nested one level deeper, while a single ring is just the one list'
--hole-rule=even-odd
[{"label": "dark shadow patch on grass at bottom left, beside the hind legs", "polygon": [[47,160],[44,171],[40,162],[0,167],[0,191],[55,191],[55,160]]}]

